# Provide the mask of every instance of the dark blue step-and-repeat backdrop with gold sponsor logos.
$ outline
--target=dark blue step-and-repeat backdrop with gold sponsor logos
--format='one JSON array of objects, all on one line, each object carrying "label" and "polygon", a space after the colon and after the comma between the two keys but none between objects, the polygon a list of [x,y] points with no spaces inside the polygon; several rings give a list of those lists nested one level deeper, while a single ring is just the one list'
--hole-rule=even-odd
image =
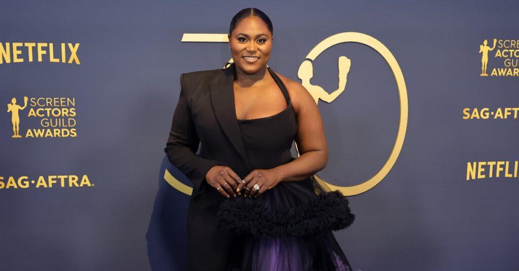
[{"label": "dark blue step-and-repeat backdrop with gold sponsor logos", "polygon": [[191,188],[163,152],[179,78],[224,66],[250,6],[321,111],[355,270],[517,268],[516,3],[0,6],[0,269],[186,269]]}]

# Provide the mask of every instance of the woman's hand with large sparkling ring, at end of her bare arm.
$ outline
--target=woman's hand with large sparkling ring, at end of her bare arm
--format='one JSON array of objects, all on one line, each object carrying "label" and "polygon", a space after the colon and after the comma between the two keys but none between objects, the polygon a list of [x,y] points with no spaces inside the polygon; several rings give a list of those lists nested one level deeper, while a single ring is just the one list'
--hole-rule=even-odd
[{"label": "woman's hand with large sparkling ring, at end of her bare arm", "polygon": [[[281,181],[281,177],[275,168],[254,169],[243,180],[247,183],[244,189],[245,196],[258,197],[263,195],[267,189],[277,186]],[[260,187],[260,190],[254,189],[255,184]]]}]

